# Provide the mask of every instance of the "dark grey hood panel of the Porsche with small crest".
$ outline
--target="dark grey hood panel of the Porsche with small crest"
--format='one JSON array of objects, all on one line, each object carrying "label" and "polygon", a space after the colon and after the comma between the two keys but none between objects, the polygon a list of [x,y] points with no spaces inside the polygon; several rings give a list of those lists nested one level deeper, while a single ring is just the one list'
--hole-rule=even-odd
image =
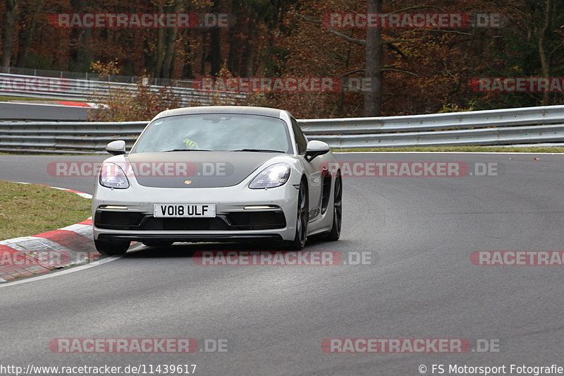
[{"label": "dark grey hood panel of the Porsche with small crest", "polygon": [[270,152],[147,152],[129,154],[126,162],[130,162],[142,186],[213,188],[235,186],[279,155]]}]

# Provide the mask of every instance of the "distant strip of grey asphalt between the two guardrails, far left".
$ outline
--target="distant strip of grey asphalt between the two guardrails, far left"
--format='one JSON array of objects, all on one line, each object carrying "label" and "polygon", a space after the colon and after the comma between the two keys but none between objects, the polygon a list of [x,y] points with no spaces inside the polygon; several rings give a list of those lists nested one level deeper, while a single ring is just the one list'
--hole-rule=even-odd
[{"label": "distant strip of grey asphalt between the two guardrails, far left", "polygon": [[87,118],[85,107],[0,102],[0,120],[72,121]]}]

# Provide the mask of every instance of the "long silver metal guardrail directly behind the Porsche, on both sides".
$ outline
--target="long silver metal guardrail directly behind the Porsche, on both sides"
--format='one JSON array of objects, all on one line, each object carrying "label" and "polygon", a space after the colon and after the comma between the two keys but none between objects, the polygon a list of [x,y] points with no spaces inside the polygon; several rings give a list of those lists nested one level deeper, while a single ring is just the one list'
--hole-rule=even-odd
[{"label": "long silver metal guardrail directly behind the Porsche, on both sides", "polygon": [[[307,137],[333,148],[516,145],[564,142],[564,106],[357,119],[298,120]],[[131,147],[147,123],[0,122],[0,152],[103,153]]]}]

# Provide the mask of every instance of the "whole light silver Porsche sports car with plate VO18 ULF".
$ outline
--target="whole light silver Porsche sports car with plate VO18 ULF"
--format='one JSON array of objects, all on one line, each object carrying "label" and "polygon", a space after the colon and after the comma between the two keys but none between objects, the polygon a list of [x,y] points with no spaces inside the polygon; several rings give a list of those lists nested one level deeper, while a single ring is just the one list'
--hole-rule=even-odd
[{"label": "whole light silver Porsche sports car with plate VO18 ULF", "polygon": [[97,250],[131,241],[273,241],[300,250],[307,236],[341,234],[343,185],[321,141],[288,112],[263,107],[166,110],[129,153],[110,142],[92,198]]}]

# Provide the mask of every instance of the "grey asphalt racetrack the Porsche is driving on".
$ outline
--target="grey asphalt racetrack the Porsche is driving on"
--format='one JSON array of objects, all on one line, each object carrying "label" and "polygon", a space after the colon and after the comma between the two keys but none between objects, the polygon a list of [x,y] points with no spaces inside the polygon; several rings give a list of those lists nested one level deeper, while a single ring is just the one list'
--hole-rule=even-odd
[{"label": "grey asphalt racetrack the Porsche is driving on", "polygon": [[[535,157],[540,159],[534,159]],[[54,161],[0,156],[0,180],[92,192]],[[563,250],[564,156],[341,154],[340,161],[495,163],[497,176],[345,177],[341,240],[312,241],[372,265],[204,267],[196,250],[140,247],[104,265],[0,288],[4,365],[196,364],[196,375],[421,375],[433,364],[564,366],[562,267],[472,265],[475,250]],[[258,247],[258,248],[257,248]],[[226,352],[59,354],[56,338],[227,339]],[[325,353],[329,338],[498,341],[496,352]],[[202,344],[200,343],[202,347]],[[514,373],[515,375],[517,373]]]}]

